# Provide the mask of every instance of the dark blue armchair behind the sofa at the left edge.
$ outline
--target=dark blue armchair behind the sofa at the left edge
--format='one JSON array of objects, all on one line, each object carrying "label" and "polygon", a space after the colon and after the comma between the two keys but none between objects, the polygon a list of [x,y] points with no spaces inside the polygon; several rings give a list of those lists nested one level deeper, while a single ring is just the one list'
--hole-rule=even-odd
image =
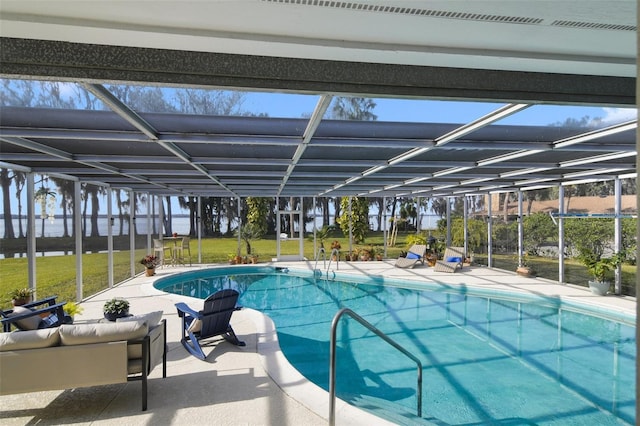
[{"label": "dark blue armchair behind the sofa at the left edge", "polygon": [[63,306],[66,302],[56,303],[56,297],[50,296],[14,306],[6,311],[0,310],[2,331],[11,331],[11,326],[19,330],[36,330],[72,322],[71,318],[64,314]]}]

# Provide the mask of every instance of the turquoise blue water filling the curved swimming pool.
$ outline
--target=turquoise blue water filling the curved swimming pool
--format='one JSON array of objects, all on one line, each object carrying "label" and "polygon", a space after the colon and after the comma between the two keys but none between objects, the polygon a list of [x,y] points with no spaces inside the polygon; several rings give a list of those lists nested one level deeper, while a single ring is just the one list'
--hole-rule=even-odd
[{"label": "turquoise blue water filling the curved swimming pool", "polygon": [[555,299],[262,266],[177,274],[155,286],[198,298],[235,288],[243,306],[274,321],[289,362],[324,389],[331,321],[352,309],[421,360],[423,415],[415,364],[348,317],[338,327],[337,395],[399,424],[635,424],[635,318]]}]

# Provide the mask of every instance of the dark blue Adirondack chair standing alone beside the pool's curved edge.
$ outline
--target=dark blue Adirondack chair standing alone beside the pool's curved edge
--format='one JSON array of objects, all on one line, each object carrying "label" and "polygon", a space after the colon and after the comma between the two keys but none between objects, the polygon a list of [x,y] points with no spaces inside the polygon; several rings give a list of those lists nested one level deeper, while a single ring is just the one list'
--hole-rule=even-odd
[{"label": "dark blue Adirondack chair standing alone beside the pool's curved edge", "polygon": [[194,311],[185,303],[176,303],[178,316],[182,319],[180,342],[191,355],[201,360],[206,359],[200,342],[216,336],[222,336],[234,345],[245,345],[229,324],[231,314],[241,309],[236,306],[238,296],[235,290],[218,291],[205,299],[201,311]]}]

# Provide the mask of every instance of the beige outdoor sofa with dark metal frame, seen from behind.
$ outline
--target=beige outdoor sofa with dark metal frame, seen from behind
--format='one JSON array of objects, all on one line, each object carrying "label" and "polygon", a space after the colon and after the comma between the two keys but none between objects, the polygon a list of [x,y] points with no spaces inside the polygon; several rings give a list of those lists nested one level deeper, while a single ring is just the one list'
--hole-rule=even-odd
[{"label": "beige outdoor sofa with dark metal frame, seen from behind", "polygon": [[0,333],[0,395],[140,380],[145,411],[149,373],[162,363],[167,376],[166,320],[155,317]]}]

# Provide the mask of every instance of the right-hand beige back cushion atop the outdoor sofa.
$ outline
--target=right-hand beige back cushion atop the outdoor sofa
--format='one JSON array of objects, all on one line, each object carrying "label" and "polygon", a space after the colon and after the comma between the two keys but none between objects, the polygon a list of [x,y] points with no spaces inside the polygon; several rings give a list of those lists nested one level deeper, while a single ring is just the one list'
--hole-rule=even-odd
[{"label": "right-hand beige back cushion atop the outdoor sofa", "polygon": [[144,321],[121,323],[64,324],[60,326],[63,345],[87,345],[141,339],[149,332]]}]

